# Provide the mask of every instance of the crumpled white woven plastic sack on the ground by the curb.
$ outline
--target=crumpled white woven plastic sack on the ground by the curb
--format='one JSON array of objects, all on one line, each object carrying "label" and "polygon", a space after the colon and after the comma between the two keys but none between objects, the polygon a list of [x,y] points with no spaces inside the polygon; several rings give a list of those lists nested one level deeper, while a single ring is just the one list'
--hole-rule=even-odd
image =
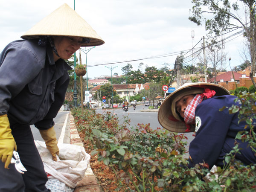
[{"label": "crumpled white woven plastic sack on the ground by the curb", "polygon": [[84,178],[84,173],[90,162],[90,155],[83,147],[70,144],[58,144],[59,155],[57,161],[52,160],[52,155],[46,148],[43,141],[35,141],[41,159],[44,163],[44,170],[51,176],[71,188],[76,187],[76,183]]}]

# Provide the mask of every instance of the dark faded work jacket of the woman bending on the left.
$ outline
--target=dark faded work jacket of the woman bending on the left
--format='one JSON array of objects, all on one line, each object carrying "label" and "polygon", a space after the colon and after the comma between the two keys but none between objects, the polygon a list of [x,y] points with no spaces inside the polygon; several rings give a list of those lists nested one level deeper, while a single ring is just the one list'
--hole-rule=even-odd
[{"label": "dark faded work jacket of the woman bending on the left", "polygon": [[69,84],[63,59],[54,62],[52,48],[38,40],[18,40],[0,54],[0,115],[10,122],[48,129],[64,102]]}]

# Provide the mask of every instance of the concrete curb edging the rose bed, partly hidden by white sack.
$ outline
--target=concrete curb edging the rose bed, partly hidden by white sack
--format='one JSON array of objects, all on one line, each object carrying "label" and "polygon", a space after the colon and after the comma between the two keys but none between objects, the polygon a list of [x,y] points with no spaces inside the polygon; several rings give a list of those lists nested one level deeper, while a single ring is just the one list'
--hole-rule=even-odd
[{"label": "concrete curb edging the rose bed, partly hidden by white sack", "polygon": [[[84,144],[78,134],[74,117],[70,114],[70,144],[84,147]],[[76,184],[74,192],[103,192],[98,183],[97,177],[94,175],[90,167],[90,163],[84,174],[84,178]]]}]

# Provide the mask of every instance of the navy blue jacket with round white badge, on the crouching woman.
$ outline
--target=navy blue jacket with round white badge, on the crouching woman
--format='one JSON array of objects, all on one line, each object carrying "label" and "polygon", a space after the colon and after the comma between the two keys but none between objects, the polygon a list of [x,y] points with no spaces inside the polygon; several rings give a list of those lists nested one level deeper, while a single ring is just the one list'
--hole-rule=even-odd
[{"label": "navy blue jacket with round white badge, on the crouching woman", "polygon": [[[228,109],[219,111],[223,106],[231,107],[236,96],[214,96],[205,99],[195,110],[196,134],[194,140],[189,145],[189,167],[197,163],[223,166],[224,155],[229,153],[235,142],[238,131],[244,131],[245,122],[238,124],[238,113],[229,114]],[[238,104],[236,104],[238,105]],[[244,164],[256,163],[256,157],[247,143],[239,142],[242,148],[241,154],[236,155],[236,159]]]}]

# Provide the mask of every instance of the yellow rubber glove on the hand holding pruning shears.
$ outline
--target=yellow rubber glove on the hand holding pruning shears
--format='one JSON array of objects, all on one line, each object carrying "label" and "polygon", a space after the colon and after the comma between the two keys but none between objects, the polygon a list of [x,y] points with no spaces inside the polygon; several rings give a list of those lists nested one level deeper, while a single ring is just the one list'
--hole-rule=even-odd
[{"label": "yellow rubber glove on the hand holding pruning shears", "polygon": [[17,151],[16,142],[12,136],[12,130],[7,115],[0,116],[0,159],[4,164],[5,169],[12,160],[13,150]]}]

